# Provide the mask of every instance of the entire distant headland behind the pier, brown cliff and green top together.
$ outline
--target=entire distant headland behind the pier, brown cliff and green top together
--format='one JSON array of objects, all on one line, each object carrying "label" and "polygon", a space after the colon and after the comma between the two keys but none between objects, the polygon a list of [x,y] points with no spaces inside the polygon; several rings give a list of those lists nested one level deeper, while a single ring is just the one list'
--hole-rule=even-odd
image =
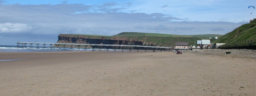
[{"label": "entire distant headland behind the pier, brown cliff and green top together", "polygon": [[[157,33],[123,32],[114,36],[60,34],[58,43],[87,43],[87,44],[123,44],[174,47],[175,42],[188,42],[194,45],[195,41],[209,39],[222,35],[171,35]],[[211,41],[214,39],[211,39]]]}]

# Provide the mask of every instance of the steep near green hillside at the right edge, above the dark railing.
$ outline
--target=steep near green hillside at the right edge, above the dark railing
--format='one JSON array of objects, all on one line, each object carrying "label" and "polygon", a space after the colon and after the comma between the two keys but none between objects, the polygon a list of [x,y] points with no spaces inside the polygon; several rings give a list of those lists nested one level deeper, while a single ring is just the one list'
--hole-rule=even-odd
[{"label": "steep near green hillside at the right edge, above the dark railing", "polygon": [[244,24],[211,43],[233,43],[256,39],[256,21]]}]

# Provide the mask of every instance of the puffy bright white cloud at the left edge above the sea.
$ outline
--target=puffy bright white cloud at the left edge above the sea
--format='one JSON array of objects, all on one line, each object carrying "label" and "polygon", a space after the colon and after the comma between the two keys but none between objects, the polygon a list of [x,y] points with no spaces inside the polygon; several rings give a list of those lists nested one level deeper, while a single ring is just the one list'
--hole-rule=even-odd
[{"label": "puffy bright white cloud at the left edge above the sea", "polygon": [[26,24],[20,23],[0,23],[0,33],[20,33],[30,30],[32,27],[28,27]]}]

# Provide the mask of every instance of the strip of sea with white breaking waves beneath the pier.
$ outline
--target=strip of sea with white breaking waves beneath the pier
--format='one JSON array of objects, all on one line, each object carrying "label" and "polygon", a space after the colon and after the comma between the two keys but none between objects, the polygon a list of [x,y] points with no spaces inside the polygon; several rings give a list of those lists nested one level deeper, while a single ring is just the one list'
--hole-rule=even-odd
[{"label": "strip of sea with white breaking waves beneath the pier", "polygon": [[[57,52],[57,51],[99,51],[98,48],[55,48],[55,47],[43,47],[39,46],[39,48],[36,48],[36,46],[33,46],[32,48],[29,48],[28,46],[26,48],[17,48],[17,46],[14,45],[0,45],[0,52]],[[101,49],[101,51],[107,51],[107,49]],[[108,49],[108,51],[114,51],[114,49]],[[121,51],[119,49],[116,49],[116,51]],[[127,51],[127,50],[123,50]]]}]

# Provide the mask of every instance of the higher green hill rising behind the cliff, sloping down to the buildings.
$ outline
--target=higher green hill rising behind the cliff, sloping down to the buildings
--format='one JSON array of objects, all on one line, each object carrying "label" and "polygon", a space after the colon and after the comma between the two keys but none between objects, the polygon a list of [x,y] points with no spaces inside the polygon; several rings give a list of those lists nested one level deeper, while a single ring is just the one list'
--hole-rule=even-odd
[{"label": "higher green hill rising behind the cliff, sloping down to the buildings", "polygon": [[[189,45],[194,45],[195,41],[202,39],[209,39],[209,37],[221,37],[222,35],[206,34],[206,35],[172,35],[172,34],[157,34],[157,33],[138,33],[138,32],[123,32],[115,37],[130,37],[135,40],[154,43],[156,46],[172,46],[174,47],[175,42],[188,42]],[[130,39],[131,40],[131,39]],[[210,39],[211,41],[215,39]],[[197,45],[197,44],[196,44]]]}]

